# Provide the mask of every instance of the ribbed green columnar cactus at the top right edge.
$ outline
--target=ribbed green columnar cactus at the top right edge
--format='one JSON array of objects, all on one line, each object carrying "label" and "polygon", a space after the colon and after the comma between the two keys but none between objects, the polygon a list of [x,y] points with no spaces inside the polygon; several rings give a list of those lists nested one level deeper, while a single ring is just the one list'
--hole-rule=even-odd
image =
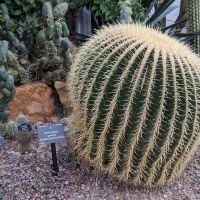
[{"label": "ribbed green columnar cactus at the top right edge", "polygon": [[[199,32],[200,31],[200,1],[190,0],[188,1],[189,8],[189,31]],[[196,53],[200,54],[200,36],[194,39],[193,47]]]}]

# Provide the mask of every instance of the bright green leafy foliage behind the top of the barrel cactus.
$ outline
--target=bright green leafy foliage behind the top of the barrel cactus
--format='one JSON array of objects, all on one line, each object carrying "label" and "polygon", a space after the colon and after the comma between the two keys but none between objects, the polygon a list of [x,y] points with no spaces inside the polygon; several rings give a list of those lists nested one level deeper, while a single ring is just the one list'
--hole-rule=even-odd
[{"label": "bright green leafy foliage behind the top of the barrel cactus", "polygon": [[[95,16],[101,17],[102,21],[119,20],[120,6],[117,5],[119,0],[78,0],[81,5],[90,5],[95,12]],[[144,11],[139,0],[131,0],[131,9],[133,11],[131,17],[133,21],[144,19]]]}]

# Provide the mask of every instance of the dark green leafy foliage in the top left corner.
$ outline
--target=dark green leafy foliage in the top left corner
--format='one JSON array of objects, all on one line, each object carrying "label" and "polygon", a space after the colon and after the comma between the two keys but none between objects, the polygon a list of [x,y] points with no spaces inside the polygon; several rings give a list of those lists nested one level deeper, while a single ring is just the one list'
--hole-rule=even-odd
[{"label": "dark green leafy foliage in the top left corner", "polygon": [[8,7],[12,19],[25,19],[26,15],[32,15],[45,0],[3,0]]}]

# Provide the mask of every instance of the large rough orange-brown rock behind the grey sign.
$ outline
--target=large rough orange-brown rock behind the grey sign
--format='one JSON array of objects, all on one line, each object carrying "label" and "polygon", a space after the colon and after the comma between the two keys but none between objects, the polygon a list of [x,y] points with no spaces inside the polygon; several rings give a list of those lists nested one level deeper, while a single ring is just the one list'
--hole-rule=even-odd
[{"label": "large rough orange-brown rock behind the grey sign", "polygon": [[33,124],[56,122],[56,109],[52,90],[44,83],[22,85],[9,103],[9,120],[16,120],[19,113],[26,115]]}]

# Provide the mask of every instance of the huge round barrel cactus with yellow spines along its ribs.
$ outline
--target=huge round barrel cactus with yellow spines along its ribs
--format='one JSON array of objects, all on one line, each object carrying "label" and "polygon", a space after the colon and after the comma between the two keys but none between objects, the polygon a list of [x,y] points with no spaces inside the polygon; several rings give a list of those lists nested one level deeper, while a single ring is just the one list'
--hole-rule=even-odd
[{"label": "huge round barrel cactus with yellow spines along its ribs", "polygon": [[174,180],[200,141],[199,69],[187,46],[157,30],[98,31],[70,72],[79,159],[135,185]]}]

